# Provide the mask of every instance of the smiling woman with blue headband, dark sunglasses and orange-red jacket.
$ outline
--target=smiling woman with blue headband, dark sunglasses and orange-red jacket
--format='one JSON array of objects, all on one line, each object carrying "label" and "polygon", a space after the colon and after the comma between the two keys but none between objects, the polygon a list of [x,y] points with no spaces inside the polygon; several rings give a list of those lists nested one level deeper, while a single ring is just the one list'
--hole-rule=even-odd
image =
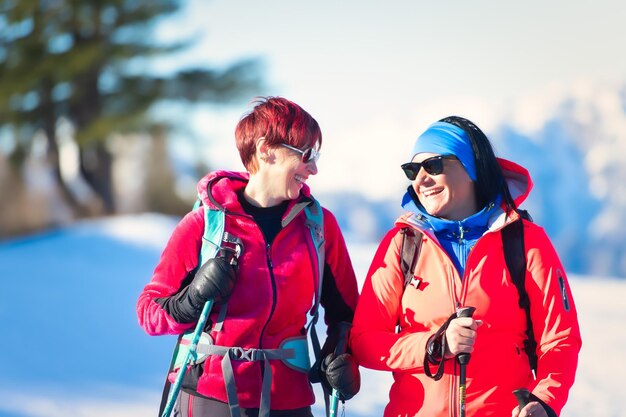
[{"label": "smiling woman with blue headband, dark sunglasses and orange-red jacket", "polygon": [[402,170],[406,213],[374,256],[350,337],[361,366],[393,372],[384,416],[558,416],[581,338],[559,257],[517,209],[528,171],[457,116],[428,127]]}]

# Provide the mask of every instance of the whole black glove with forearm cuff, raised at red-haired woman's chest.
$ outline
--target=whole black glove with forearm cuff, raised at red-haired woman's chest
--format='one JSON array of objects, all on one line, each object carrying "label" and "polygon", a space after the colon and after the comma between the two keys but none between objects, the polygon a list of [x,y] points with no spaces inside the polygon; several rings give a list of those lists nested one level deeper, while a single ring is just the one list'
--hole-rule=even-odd
[{"label": "whole black glove with forearm cuff, raised at red-haired woman's chest", "polygon": [[237,280],[237,267],[223,257],[211,258],[194,275],[191,283],[172,297],[155,301],[178,323],[198,320],[207,300],[228,300]]}]

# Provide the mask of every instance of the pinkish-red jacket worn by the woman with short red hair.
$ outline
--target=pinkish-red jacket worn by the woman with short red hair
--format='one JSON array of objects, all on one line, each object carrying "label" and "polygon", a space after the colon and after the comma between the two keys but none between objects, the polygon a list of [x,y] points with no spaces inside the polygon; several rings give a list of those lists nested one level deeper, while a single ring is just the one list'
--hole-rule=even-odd
[{"label": "pinkish-red jacket worn by the woman with short red hair", "polygon": [[[243,241],[237,283],[228,302],[223,329],[212,331],[216,345],[243,348],[278,348],[290,337],[305,334],[307,313],[311,309],[317,281],[310,256],[312,243],[301,212],[267,245],[253,218],[246,214],[236,192],[247,184],[248,175],[215,172],[198,184],[198,192],[207,206],[214,207],[209,193],[230,214],[225,230]],[[207,185],[211,184],[210,189]],[[305,186],[301,197],[308,196]],[[287,211],[296,204],[290,202]],[[346,245],[335,217],[324,213],[325,275],[321,304],[325,320],[331,326],[339,321],[352,321],[358,288]],[[152,280],[139,296],[137,314],[140,325],[151,335],[180,334],[195,323],[177,323],[155,299],[169,297],[182,288],[183,280],[197,267],[204,231],[202,209],[187,214],[174,230]],[[210,319],[215,322],[219,309]],[[220,401],[227,401],[221,362],[210,356],[197,381],[197,392]],[[307,375],[295,371],[280,360],[272,366],[272,409],[294,409],[313,404],[314,396]],[[239,402],[243,408],[260,404],[262,362],[232,361]],[[187,375],[186,375],[187,377]]]}]

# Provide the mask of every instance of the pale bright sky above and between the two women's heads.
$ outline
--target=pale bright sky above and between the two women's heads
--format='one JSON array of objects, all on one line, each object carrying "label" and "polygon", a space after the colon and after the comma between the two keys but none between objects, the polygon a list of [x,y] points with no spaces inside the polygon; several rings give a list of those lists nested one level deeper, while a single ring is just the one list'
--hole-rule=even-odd
[{"label": "pale bright sky above and between the two women's heads", "polygon": [[[468,117],[487,133],[503,121],[532,131],[543,116],[536,109],[555,96],[626,82],[619,52],[626,5],[618,1],[187,4],[159,36],[198,42],[162,65],[263,59],[263,94],[292,99],[322,127],[314,191],[399,195],[405,181],[398,165],[442,117]],[[247,110],[243,103],[185,113],[214,167],[242,169],[233,131]]]}]

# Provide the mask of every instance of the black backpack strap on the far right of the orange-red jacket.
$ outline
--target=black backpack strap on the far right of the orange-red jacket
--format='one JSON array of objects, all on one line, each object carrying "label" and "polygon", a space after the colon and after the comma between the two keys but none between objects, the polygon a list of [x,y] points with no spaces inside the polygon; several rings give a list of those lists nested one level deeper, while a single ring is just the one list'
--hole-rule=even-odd
[{"label": "black backpack strap on the far right of the orange-red jacket", "polygon": [[520,219],[515,220],[502,229],[502,245],[504,246],[504,260],[511,274],[511,280],[519,293],[519,306],[526,313],[526,340],[524,350],[528,356],[531,372],[537,379],[537,341],[533,332],[533,323],[530,317],[530,298],[526,292],[526,250],[524,249],[524,223],[522,218],[530,219],[527,212],[519,210]]}]

